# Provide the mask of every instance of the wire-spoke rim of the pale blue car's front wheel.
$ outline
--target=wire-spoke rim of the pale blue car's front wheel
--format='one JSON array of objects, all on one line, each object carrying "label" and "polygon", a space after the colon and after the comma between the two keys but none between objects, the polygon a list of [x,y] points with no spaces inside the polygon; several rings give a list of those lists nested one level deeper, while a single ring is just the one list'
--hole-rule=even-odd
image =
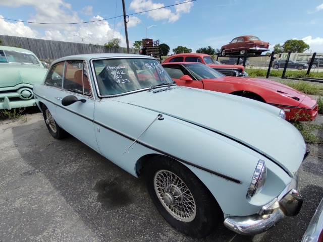
[{"label": "wire-spoke rim of the pale blue car's front wheel", "polygon": [[191,222],[196,216],[196,203],[184,181],[168,170],[158,170],[153,180],[159,202],[177,220]]}]

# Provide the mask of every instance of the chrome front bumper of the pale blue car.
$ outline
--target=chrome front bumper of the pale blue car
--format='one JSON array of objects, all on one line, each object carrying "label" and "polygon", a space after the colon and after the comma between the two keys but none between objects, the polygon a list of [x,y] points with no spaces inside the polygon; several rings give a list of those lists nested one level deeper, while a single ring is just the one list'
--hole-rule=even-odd
[{"label": "chrome front bumper of the pale blue car", "polygon": [[[254,235],[262,233],[276,223],[284,216],[296,216],[300,211],[303,200],[297,189],[298,174],[296,173],[283,193],[262,207],[259,214],[246,217],[228,217],[224,221],[224,225],[244,235]],[[288,191],[286,193],[286,191]]]}]

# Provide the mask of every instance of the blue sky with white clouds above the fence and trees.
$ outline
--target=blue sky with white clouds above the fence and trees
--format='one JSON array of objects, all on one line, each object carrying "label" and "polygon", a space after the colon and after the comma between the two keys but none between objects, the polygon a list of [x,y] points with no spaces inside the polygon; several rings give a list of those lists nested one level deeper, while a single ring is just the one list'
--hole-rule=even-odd
[{"label": "blue sky with white clouds above the fence and trees", "polygon": [[[180,45],[195,52],[255,35],[271,51],[301,39],[310,46],[305,52],[323,52],[323,0],[190,1],[124,0],[129,46],[147,36],[169,45],[170,54]],[[122,16],[122,0],[0,0],[0,34],[101,45],[120,38],[126,47]]]}]

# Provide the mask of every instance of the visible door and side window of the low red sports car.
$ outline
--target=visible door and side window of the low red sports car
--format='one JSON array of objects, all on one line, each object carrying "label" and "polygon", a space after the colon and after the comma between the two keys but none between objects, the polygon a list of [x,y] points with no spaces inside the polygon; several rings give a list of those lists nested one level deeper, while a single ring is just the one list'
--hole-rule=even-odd
[{"label": "visible door and side window of the low red sports car", "polygon": [[[204,89],[203,82],[196,80],[196,78],[187,72],[181,65],[165,65],[163,67],[177,85]],[[183,78],[181,80],[181,77],[184,75],[189,76],[190,80],[184,80]]]}]

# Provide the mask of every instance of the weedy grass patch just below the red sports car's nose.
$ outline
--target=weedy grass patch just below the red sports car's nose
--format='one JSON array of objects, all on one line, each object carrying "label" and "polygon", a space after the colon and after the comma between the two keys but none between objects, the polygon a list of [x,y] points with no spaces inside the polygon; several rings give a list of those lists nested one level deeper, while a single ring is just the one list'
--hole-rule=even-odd
[{"label": "weedy grass patch just below the red sports car's nose", "polygon": [[306,143],[323,144],[323,139],[313,134],[317,130],[323,130],[322,125],[313,125],[310,122],[293,122],[292,124],[302,134]]}]

